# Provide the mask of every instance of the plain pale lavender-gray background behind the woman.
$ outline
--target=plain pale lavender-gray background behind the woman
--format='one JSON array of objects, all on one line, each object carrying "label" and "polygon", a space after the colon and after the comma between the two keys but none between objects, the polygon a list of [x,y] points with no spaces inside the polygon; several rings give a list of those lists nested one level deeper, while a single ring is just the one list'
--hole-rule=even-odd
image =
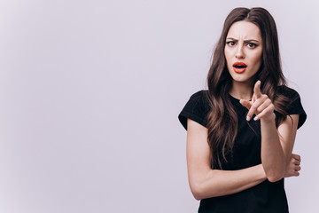
[{"label": "plain pale lavender-gray background behind the woman", "polygon": [[177,120],[223,20],[263,6],[308,117],[286,179],[292,213],[317,209],[316,1],[0,1],[0,212],[196,212]]}]

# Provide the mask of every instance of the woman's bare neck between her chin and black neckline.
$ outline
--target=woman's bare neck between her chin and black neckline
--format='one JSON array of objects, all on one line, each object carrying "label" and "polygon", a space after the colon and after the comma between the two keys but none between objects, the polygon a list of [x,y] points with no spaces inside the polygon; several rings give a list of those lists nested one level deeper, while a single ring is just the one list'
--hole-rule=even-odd
[{"label": "woman's bare neck between her chin and black neckline", "polygon": [[250,100],[253,98],[252,83],[238,83],[233,81],[230,88],[230,95],[236,99]]}]

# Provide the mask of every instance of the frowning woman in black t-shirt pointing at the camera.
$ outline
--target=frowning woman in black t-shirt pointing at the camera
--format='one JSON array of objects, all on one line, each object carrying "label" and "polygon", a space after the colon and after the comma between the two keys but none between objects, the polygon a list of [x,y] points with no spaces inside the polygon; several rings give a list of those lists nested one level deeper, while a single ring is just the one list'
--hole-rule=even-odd
[{"label": "frowning woman in black t-shirt pointing at the camera", "polygon": [[288,212],[284,177],[299,176],[292,154],[306,121],[286,86],[276,24],[263,8],[225,20],[207,84],[184,106],[187,168],[198,212]]}]

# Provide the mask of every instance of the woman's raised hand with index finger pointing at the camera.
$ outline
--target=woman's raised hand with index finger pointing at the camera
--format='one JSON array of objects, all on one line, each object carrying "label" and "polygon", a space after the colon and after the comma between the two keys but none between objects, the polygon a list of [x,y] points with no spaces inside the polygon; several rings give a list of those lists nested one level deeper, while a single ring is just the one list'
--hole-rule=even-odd
[{"label": "woman's raised hand with index finger pointing at the camera", "polygon": [[266,94],[261,93],[261,81],[257,81],[253,87],[253,99],[241,99],[240,103],[249,110],[246,117],[247,121],[251,120],[253,114],[256,114],[253,118],[254,121],[259,119],[275,121],[275,106]]}]

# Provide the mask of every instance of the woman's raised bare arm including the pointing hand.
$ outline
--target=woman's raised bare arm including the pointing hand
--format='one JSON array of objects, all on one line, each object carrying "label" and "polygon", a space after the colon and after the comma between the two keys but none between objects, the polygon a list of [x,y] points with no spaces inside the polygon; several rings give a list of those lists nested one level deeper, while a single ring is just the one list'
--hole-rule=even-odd
[{"label": "woman's raised bare arm including the pointing hand", "polygon": [[261,162],[270,182],[284,177],[284,172],[292,158],[292,148],[296,137],[299,114],[287,116],[276,129],[274,106],[267,95],[261,94],[261,82],[255,83],[253,99],[241,100],[249,109],[247,120],[257,114],[255,121],[261,120]]}]

